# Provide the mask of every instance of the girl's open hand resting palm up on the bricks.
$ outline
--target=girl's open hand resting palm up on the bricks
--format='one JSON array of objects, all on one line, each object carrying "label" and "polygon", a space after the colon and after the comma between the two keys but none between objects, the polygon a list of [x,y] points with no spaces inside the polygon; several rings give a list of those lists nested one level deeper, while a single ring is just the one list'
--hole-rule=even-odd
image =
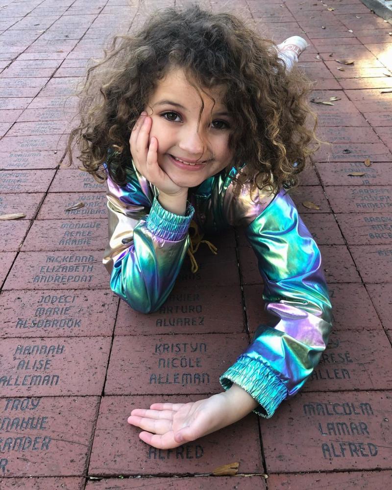
[{"label": "girl's open hand resting palm up on the bricks", "polygon": [[225,393],[191,403],[154,403],[150,410],[132,410],[128,423],[144,429],[142,441],[171,449],[233,423],[229,406]]}]

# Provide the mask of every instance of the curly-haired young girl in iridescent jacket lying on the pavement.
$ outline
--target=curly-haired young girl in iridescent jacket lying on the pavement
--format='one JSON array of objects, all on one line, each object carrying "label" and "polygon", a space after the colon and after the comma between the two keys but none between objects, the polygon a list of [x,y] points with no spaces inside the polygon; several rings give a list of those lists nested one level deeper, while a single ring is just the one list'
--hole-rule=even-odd
[{"label": "curly-haired young girl in iridescent jacket lying on the pavement", "polygon": [[84,169],[107,178],[112,291],[137,311],[156,311],[192,245],[191,220],[198,233],[241,226],[278,318],[260,325],[221,375],[221,393],[132,411],[128,422],[155,447],[251,411],[271,417],[327,344],[319,249],[286,193],[317,142],[305,125],[309,84],[290,70],[305,47],[298,37],[276,47],[236,17],[194,6],[159,11],[136,35],[116,37],[88,71],[69,152],[76,138]]}]

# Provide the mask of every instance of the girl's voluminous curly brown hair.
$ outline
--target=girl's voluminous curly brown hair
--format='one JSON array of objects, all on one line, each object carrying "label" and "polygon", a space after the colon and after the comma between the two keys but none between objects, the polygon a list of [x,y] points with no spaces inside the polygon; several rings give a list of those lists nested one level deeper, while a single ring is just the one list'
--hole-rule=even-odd
[{"label": "girl's voluminous curly brown hair", "polygon": [[132,127],[157,81],[173,67],[196,86],[226,87],[222,102],[234,117],[229,146],[234,166],[243,167],[234,178],[237,192],[248,182],[273,191],[298,184],[298,173],[319,146],[317,116],[307,103],[311,83],[297,69],[286,70],[275,44],[238,17],[197,5],[158,10],[138,33],[117,35],[104,49],[77,93],[80,124],[68,140],[69,163],[75,140],[81,170],[104,180],[106,162],[110,178],[125,184]]}]

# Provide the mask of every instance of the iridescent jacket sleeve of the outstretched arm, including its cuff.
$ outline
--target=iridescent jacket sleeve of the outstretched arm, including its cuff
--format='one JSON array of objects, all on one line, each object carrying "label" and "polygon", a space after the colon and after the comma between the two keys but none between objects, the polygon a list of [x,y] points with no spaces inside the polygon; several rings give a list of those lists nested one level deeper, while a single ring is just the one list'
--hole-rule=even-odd
[{"label": "iridescent jacket sleeve of the outstretched arm, including its cuff", "polygon": [[331,303],[312,235],[281,191],[245,230],[264,280],[266,310],[277,324],[259,325],[253,342],[221,375],[224,389],[241,386],[271,417],[319,363],[331,330]]}]

